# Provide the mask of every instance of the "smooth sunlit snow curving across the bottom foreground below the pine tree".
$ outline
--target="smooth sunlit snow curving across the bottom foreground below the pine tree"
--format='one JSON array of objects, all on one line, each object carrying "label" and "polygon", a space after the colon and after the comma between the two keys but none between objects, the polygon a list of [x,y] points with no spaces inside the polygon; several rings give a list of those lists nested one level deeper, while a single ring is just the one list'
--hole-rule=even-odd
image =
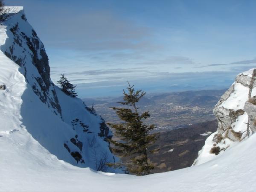
[{"label": "smooth sunlit snow curving across the bottom foreground below the pine tree", "polygon": [[0,149],[5,154],[0,159],[0,191],[203,192],[253,191],[256,187],[256,135],[199,166],[139,177],[71,166],[49,154],[26,132],[26,143],[19,145],[17,134],[12,134],[16,142],[10,145],[0,140],[9,151]]}]

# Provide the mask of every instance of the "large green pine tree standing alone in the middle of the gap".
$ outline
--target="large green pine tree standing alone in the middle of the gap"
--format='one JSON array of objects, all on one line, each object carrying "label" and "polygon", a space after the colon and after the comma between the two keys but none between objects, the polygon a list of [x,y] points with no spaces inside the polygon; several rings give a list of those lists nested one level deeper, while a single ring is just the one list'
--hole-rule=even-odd
[{"label": "large green pine tree standing alone in the middle of the gap", "polygon": [[[123,102],[121,105],[130,106],[130,108],[116,108],[117,116],[123,121],[121,124],[108,123],[115,130],[115,134],[121,139],[120,142],[110,140],[111,149],[121,157],[129,157],[129,160],[123,164],[116,166],[126,166],[128,172],[136,175],[148,175],[154,169],[148,161],[148,154],[155,151],[148,149],[157,139],[157,134],[150,134],[154,129],[154,125],[145,125],[144,119],[147,119],[150,114],[144,112],[140,115],[136,104],[145,96],[142,90],[134,90],[134,85],[131,86],[128,82],[128,93],[123,90]],[[112,147],[114,146],[114,147]]]}]

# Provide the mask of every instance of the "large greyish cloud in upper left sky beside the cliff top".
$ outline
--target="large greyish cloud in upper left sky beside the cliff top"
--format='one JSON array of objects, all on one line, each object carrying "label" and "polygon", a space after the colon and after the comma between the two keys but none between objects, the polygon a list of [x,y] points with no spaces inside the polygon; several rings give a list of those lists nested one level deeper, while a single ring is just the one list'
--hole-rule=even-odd
[{"label": "large greyish cloud in upper left sky beside the cliff top", "polygon": [[45,15],[48,27],[41,33],[47,34],[48,46],[90,52],[157,49],[157,44],[148,41],[152,30],[111,11],[80,12],[71,17],[67,17],[67,12],[70,8],[61,7]]}]

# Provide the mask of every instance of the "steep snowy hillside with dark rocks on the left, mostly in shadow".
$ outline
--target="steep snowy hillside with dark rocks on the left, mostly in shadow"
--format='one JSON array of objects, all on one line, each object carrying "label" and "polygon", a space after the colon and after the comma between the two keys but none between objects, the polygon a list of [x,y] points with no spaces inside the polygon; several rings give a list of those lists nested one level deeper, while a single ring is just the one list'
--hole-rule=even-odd
[{"label": "steep snowy hillside with dark rocks on the left, mostly in shadow", "polygon": [[[18,144],[31,154],[36,151],[30,143],[38,142],[75,166],[114,171],[103,166],[118,161],[105,141],[112,134],[104,120],[52,83],[44,45],[23,8],[9,9],[16,14],[0,26],[0,84],[6,87],[0,90],[1,142]],[[8,154],[10,149],[0,150]]]}]

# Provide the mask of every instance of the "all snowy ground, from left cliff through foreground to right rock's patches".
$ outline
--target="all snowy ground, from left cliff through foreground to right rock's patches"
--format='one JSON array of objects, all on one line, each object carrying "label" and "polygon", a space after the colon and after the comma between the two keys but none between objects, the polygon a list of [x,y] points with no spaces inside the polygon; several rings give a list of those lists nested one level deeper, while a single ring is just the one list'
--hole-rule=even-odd
[{"label": "all snowy ground, from left cliff through foreground to right rock's patches", "polygon": [[[105,169],[102,160],[116,160],[105,141],[111,132],[80,99],[55,87],[44,46],[23,9],[12,12],[17,14],[0,26],[0,191],[255,191],[255,134],[229,141],[236,145],[186,169],[147,176],[93,171]],[[247,88],[233,88],[216,108],[243,108]],[[235,119],[234,131],[244,130],[246,118]]]}]

